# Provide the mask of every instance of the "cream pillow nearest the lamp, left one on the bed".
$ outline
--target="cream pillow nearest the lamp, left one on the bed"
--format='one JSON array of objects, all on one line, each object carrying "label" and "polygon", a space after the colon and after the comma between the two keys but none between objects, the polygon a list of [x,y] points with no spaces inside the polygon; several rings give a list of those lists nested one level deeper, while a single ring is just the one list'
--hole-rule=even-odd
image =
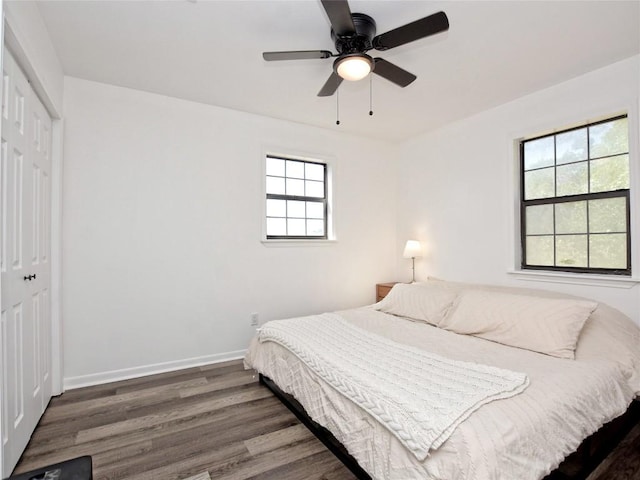
[{"label": "cream pillow nearest the lamp, left one on the bed", "polygon": [[399,317],[438,325],[456,297],[456,292],[438,286],[397,283],[375,308]]}]

